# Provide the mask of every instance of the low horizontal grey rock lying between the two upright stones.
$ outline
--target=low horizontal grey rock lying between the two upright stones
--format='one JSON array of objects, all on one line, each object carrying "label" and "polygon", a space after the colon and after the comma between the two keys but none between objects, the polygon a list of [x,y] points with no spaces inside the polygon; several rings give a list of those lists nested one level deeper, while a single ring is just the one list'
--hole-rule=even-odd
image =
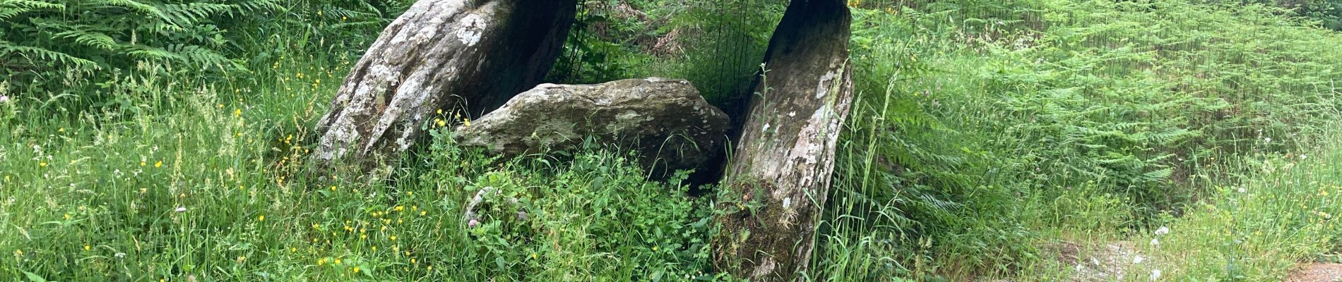
[{"label": "low horizontal grey rock lying between the two upright stones", "polygon": [[627,79],[590,86],[541,84],[459,126],[459,144],[506,156],[572,150],[586,136],[635,150],[654,176],[698,168],[723,150],[727,115],[686,80]]}]

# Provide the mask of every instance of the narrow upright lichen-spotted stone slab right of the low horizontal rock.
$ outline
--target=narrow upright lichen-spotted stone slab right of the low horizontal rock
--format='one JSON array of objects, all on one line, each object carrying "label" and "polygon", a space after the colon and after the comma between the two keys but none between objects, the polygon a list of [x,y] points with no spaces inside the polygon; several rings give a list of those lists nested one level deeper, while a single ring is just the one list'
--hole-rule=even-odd
[{"label": "narrow upright lichen-spotted stone slab right of the low horizontal rock", "polygon": [[[717,263],[750,281],[800,281],[852,106],[851,16],[841,0],[792,0],[756,87],[726,188],[756,208],[719,219]],[[730,208],[730,204],[725,204]]]}]

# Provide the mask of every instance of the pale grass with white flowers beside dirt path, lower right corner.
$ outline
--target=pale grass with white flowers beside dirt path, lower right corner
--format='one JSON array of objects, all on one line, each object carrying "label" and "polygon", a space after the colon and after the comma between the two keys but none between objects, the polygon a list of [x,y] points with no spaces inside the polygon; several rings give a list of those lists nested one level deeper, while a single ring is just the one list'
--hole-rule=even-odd
[{"label": "pale grass with white flowers beside dirt path, lower right corner", "polygon": [[[1255,155],[1223,168],[1241,180],[1169,219],[1168,234],[1135,238],[1153,258],[1138,273],[1174,281],[1282,281],[1298,263],[1342,251],[1342,136],[1290,154]],[[1335,262],[1335,261],[1334,261]]]}]

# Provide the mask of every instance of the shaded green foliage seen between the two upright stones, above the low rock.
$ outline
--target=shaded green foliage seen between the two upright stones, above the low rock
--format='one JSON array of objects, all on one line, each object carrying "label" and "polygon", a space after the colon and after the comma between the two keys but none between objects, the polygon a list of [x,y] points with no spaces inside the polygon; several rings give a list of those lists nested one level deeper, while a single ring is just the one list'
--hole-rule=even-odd
[{"label": "shaded green foliage seen between the two upright stones, above the low rock", "polygon": [[683,78],[709,103],[743,107],[784,0],[582,1],[556,83]]}]

